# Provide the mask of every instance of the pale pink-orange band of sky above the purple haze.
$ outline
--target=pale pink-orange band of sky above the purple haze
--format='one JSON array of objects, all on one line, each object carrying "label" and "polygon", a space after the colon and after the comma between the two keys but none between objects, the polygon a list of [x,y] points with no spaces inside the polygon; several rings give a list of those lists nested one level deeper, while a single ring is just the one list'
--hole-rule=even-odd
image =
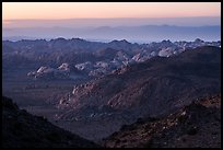
[{"label": "pale pink-orange band of sky above the purple haze", "polygon": [[187,16],[221,16],[221,2],[2,2],[2,21]]}]

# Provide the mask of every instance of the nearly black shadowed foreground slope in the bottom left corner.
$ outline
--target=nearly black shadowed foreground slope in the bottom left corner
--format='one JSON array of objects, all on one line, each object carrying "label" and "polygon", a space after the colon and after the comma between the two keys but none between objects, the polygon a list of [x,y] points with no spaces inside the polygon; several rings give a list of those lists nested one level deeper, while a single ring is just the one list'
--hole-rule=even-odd
[{"label": "nearly black shadowed foreground slope in the bottom left corner", "polygon": [[2,105],[3,148],[98,148],[43,117],[20,109],[11,99],[2,96]]}]

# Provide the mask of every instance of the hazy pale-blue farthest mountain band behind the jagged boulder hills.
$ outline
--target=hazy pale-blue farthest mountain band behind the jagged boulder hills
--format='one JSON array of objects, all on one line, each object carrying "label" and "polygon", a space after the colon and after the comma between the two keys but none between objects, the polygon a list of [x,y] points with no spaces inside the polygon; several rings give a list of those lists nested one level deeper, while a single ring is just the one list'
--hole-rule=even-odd
[{"label": "hazy pale-blue farthest mountain band behind the jagged boulder hills", "polygon": [[197,37],[204,41],[221,39],[221,26],[174,26],[174,25],[141,25],[141,26],[98,26],[98,27],[14,27],[2,28],[3,39],[34,39],[56,37],[81,37],[85,39],[108,42],[127,39],[132,43],[159,42],[160,39],[192,41]]}]

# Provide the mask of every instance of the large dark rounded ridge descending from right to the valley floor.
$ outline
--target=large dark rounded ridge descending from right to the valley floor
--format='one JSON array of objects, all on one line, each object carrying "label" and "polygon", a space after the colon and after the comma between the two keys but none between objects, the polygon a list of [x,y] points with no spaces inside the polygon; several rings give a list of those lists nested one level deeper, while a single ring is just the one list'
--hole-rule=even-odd
[{"label": "large dark rounded ridge descending from right to the valley floor", "polygon": [[154,57],[75,85],[58,105],[68,109],[60,118],[75,118],[75,111],[85,108],[92,111],[83,116],[92,116],[99,107],[109,107],[109,114],[110,109],[127,111],[129,117],[165,114],[192,99],[219,92],[220,81],[218,47],[199,47],[169,58]]}]

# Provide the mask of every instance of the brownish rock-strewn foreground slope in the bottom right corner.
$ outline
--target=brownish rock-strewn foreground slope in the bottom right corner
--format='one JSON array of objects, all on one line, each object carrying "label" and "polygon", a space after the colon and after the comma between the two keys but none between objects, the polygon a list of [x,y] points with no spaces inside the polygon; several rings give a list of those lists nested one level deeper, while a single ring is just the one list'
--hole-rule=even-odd
[{"label": "brownish rock-strewn foreground slope in the bottom right corner", "polygon": [[173,114],[138,119],[104,139],[108,148],[221,148],[221,95]]}]

